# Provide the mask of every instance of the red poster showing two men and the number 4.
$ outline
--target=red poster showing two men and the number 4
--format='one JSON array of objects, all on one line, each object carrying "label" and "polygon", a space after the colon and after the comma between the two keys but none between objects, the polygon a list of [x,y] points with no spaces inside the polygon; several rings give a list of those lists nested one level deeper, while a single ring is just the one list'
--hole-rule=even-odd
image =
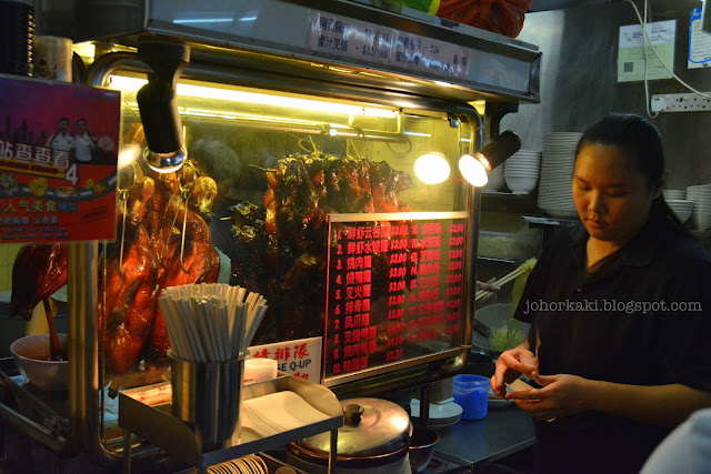
[{"label": "red poster showing two men and the number 4", "polygon": [[116,239],[120,92],[0,75],[0,243]]}]

